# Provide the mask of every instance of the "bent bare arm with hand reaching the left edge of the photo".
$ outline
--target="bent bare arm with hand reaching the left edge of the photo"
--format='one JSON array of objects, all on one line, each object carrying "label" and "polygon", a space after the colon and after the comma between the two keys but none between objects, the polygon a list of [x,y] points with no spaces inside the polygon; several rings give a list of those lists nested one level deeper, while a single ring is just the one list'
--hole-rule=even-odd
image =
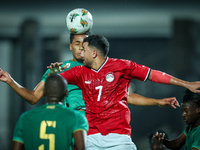
[{"label": "bent bare arm with hand reaching the left edge of the photo", "polygon": [[30,91],[18,84],[8,72],[0,69],[0,81],[7,83],[23,99],[30,104],[37,103],[43,96],[44,82],[41,81],[34,90]]}]

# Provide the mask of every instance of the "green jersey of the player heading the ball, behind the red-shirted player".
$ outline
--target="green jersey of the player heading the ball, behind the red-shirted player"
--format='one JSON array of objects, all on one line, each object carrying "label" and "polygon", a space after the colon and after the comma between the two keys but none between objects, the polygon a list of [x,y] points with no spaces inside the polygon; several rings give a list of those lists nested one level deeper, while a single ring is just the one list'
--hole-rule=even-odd
[{"label": "green jersey of the player heading the ball, behind the red-shirted player", "polygon": [[[61,67],[63,67],[64,65],[67,65],[67,68],[64,69],[63,72],[71,69],[72,67],[83,65],[83,63],[80,63],[78,61],[67,60],[63,62],[63,65]],[[46,81],[48,73],[49,73],[49,69],[42,76],[42,81],[44,82]],[[76,85],[69,84],[68,91],[69,93],[68,93],[68,96],[65,98],[64,104],[68,105],[68,107],[72,109],[85,110],[85,101],[82,98],[81,89]]]}]

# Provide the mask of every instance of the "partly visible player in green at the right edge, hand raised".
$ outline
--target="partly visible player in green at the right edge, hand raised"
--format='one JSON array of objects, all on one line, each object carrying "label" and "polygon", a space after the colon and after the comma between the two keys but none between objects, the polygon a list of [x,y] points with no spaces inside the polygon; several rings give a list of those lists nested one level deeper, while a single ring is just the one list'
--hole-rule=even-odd
[{"label": "partly visible player in green at the right edge, hand raised", "polygon": [[184,150],[200,149],[200,94],[186,90],[181,104],[182,116],[187,124],[183,133],[176,139],[168,140],[164,133],[156,132],[154,137],[158,142],[170,149]]}]

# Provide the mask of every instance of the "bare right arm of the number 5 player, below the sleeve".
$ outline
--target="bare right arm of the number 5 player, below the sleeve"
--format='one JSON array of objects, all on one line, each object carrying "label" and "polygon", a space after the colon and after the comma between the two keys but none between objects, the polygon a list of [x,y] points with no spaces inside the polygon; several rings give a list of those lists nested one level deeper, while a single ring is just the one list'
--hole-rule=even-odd
[{"label": "bare right arm of the number 5 player, below the sleeve", "polygon": [[85,130],[77,130],[73,133],[73,137],[75,140],[76,149],[85,150],[87,132]]}]

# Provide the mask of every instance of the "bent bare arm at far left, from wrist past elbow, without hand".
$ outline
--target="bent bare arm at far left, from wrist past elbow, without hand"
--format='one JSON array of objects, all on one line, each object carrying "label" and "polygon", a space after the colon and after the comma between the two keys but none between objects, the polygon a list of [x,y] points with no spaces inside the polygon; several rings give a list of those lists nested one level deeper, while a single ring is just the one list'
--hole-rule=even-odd
[{"label": "bent bare arm at far left, from wrist past elbow, without hand", "polygon": [[14,79],[11,78],[9,82],[7,82],[8,85],[23,99],[25,99],[28,103],[30,104],[35,104],[37,103],[43,96],[43,87],[44,87],[44,82],[41,81],[36,88],[31,91],[20,84],[18,84]]}]

